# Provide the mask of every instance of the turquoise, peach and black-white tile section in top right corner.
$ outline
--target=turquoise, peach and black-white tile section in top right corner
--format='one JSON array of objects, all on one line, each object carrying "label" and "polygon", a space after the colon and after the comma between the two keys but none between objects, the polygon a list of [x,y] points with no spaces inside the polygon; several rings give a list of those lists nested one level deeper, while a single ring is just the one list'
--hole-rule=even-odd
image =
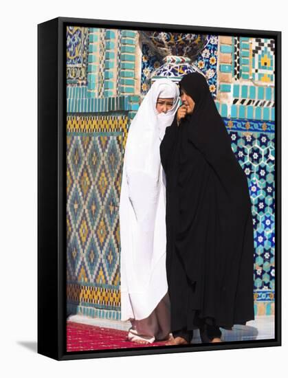
[{"label": "turquoise, peach and black-white tile section in top right corner", "polygon": [[219,65],[219,113],[232,119],[274,121],[274,40],[229,38],[220,39],[224,54]]}]

